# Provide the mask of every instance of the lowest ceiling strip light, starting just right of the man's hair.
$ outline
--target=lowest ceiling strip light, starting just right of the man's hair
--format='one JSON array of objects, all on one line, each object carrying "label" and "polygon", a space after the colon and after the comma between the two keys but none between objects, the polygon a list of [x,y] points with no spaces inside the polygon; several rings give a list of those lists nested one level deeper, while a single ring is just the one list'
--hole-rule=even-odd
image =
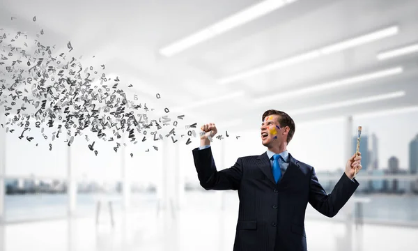
[{"label": "lowest ceiling strip light, starting just right of the man's hair", "polygon": [[317,107],[307,107],[303,109],[297,109],[293,112],[289,112],[289,114],[297,115],[297,114],[306,114],[309,112],[320,112],[320,111],[326,111],[329,109],[336,109],[336,108],[342,108],[342,107],[350,107],[353,105],[366,104],[369,102],[377,102],[377,101],[382,101],[382,100],[401,98],[403,96],[405,96],[405,91],[396,91],[392,93],[380,94],[377,96],[357,98],[355,100],[346,100],[343,102],[334,102],[334,103],[330,103],[327,105],[319,105]]}]

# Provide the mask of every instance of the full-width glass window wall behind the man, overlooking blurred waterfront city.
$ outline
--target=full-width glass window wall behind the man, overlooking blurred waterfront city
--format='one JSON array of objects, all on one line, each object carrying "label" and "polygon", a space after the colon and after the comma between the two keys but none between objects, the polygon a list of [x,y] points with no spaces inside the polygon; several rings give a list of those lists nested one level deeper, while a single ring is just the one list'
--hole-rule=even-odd
[{"label": "full-width glass window wall behind the man, overlooking blurred waterfront city", "polygon": [[[418,222],[416,117],[418,112],[354,116],[350,147],[354,153],[357,126],[362,126],[360,151],[364,166],[357,176],[360,186],[355,197],[370,199],[362,211],[366,219]],[[345,123],[344,119],[296,121],[296,132],[288,146],[294,158],[315,167],[318,179],[327,192],[332,192],[347,161],[343,154],[346,147]],[[18,130],[10,132],[9,128],[6,134],[6,220],[54,218],[67,214],[68,146],[63,142],[64,135],[61,141],[57,138],[48,141],[43,135],[52,135],[54,131],[45,128],[42,133],[40,130],[38,134],[36,129],[31,132],[32,142],[19,139]],[[178,168],[179,181],[184,184],[185,192],[180,199],[183,208],[216,210],[222,203],[228,208],[238,206],[235,191],[219,193],[201,188],[192,156],[192,149],[199,146],[197,140],[189,145],[179,141],[170,146],[169,151],[177,148],[180,156],[176,167],[174,162],[164,164],[161,142],[153,142],[159,151],[153,148],[153,144],[132,142],[114,151],[116,143],[95,141],[92,151],[88,145],[93,144],[91,139],[94,137],[88,133],[77,137],[70,146],[70,163],[77,179],[77,215],[94,215],[97,202],[103,197],[114,201],[114,211],[121,210],[124,178],[131,191],[128,199],[132,208],[144,212],[157,210],[162,198],[162,174],[170,172],[167,178],[174,179],[174,168]],[[214,139],[211,144],[218,170],[231,167],[239,157],[260,155],[266,150],[261,144],[258,128],[236,133],[240,135],[238,139]],[[86,135],[90,135],[89,140]],[[51,151],[49,144],[52,144]],[[94,151],[98,151],[98,155]],[[25,158],[21,157],[23,154]],[[307,208],[307,215],[320,216],[311,206]]]}]

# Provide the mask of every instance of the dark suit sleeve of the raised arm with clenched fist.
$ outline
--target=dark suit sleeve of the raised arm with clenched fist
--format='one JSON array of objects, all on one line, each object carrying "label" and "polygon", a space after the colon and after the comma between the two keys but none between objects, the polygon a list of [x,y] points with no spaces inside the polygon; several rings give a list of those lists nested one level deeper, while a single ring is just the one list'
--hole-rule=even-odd
[{"label": "dark suit sleeve of the raised arm with clenched fist", "polygon": [[242,160],[238,158],[233,167],[217,171],[212,150],[196,148],[192,151],[194,167],[202,188],[206,190],[238,190],[242,178]]}]

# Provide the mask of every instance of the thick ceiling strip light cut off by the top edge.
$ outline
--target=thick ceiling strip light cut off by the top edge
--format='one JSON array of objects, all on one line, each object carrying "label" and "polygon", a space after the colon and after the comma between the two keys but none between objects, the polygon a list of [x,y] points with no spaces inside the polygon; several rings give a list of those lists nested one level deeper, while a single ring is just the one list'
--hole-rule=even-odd
[{"label": "thick ceiling strip light cut off by the top edge", "polygon": [[293,3],[297,0],[265,0],[261,3],[255,4],[249,8],[246,8],[230,17],[226,17],[224,20],[208,26],[206,29],[193,33],[186,38],[183,38],[167,47],[164,47],[160,50],[160,54],[164,56],[173,56],[178,52],[186,50],[188,47],[192,47],[198,43],[202,43],[205,40],[208,40],[214,36],[219,36],[220,34],[234,29],[242,24],[251,22],[258,17],[267,15],[273,10],[277,10],[287,4]]}]

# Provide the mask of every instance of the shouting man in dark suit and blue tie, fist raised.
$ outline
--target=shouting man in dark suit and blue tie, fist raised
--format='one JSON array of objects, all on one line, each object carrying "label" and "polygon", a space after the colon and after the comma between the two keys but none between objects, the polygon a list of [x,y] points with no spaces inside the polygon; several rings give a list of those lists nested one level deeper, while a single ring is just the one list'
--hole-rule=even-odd
[{"label": "shouting man in dark suit and blue tie, fist raised", "polygon": [[[217,171],[208,139],[217,134],[217,128],[208,123],[201,130],[206,132],[201,135],[201,146],[192,151],[201,186],[206,190],[238,190],[234,251],[307,250],[304,215],[308,202],[323,215],[334,217],[359,185],[354,174],[362,169],[360,153],[346,162],[344,174],[327,195],[314,167],[286,150],[295,123],[285,112],[270,109],[262,116],[265,153],[238,158],[233,167],[221,171]],[[327,161],[326,155],[323,161]]]}]

